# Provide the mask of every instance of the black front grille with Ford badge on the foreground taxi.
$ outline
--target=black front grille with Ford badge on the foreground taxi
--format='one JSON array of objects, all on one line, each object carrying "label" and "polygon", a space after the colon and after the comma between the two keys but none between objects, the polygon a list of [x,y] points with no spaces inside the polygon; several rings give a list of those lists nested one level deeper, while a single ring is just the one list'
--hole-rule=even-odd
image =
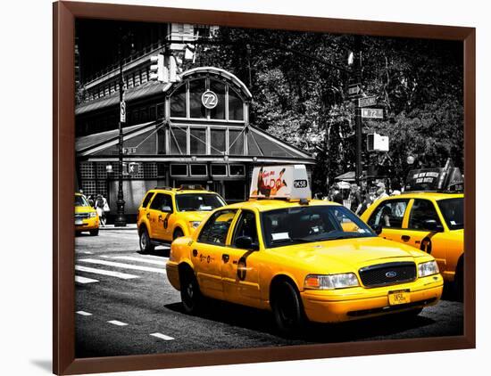
[{"label": "black front grille with Ford badge on the foreground taxi", "polygon": [[386,286],[416,279],[416,264],[397,262],[363,267],[358,271],[365,287]]}]

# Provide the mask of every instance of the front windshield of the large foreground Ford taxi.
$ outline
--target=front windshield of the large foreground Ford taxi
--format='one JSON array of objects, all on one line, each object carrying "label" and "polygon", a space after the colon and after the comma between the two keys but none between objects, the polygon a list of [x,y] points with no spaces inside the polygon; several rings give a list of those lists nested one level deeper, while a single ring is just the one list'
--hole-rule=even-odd
[{"label": "front windshield of the large foreground Ford taxi", "polygon": [[376,235],[370,227],[341,206],[281,208],[262,213],[266,248],[371,236]]}]

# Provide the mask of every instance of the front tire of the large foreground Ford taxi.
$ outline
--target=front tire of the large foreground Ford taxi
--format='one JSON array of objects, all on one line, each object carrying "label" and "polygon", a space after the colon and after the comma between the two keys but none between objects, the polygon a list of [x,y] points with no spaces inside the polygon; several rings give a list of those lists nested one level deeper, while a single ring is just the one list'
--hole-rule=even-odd
[{"label": "front tire of the large foreground Ford taxi", "polygon": [[272,293],[271,308],[279,332],[285,337],[298,337],[306,322],[298,291],[291,282],[282,281]]}]

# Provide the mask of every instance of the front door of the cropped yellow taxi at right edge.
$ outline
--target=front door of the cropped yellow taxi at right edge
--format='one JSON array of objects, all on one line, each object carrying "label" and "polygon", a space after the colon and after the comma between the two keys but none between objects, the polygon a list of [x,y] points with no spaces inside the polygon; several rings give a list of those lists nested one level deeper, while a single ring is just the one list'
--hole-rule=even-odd
[{"label": "front door of the cropped yellow taxi at right edge", "polygon": [[445,228],[432,200],[414,199],[404,241],[435,257],[440,273],[446,269]]}]

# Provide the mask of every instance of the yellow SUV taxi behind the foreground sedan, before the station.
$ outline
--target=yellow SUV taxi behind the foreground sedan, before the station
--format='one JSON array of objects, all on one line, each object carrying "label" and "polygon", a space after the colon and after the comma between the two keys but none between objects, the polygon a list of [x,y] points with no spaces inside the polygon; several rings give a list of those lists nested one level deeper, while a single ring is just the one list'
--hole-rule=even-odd
[{"label": "yellow SUV taxi behind the foreground sedan, before the station", "polygon": [[215,208],[226,205],[218,193],[201,185],[162,187],[146,192],[137,212],[140,249],[149,252],[156,245],[170,244],[192,234]]}]

